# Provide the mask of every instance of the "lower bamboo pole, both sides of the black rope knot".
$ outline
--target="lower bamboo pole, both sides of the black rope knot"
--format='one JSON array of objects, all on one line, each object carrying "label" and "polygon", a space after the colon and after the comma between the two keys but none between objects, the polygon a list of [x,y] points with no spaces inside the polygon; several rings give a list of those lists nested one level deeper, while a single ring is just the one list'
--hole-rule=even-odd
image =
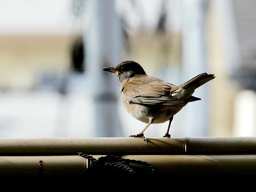
[{"label": "lower bamboo pole, both sides of the black rope knot", "polygon": [[[94,155],[94,158],[101,156]],[[155,167],[156,175],[161,176],[212,177],[256,174],[256,155],[124,155],[123,158],[147,162]],[[0,178],[81,177],[88,167],[86,158],[79,155],[1,156]]]}]

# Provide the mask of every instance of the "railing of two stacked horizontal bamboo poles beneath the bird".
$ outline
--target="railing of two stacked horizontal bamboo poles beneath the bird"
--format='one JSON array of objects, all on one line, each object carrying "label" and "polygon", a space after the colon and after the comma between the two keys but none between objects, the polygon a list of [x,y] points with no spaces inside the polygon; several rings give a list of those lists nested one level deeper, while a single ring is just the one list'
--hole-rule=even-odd
[{"label": "railing of two stacked horizontal bamboo poles beneath the bird", "polygon": [[0,139],[0,178],[80,177],[109,154],[143,161],[157,175],[256,176],[255,137]]}]

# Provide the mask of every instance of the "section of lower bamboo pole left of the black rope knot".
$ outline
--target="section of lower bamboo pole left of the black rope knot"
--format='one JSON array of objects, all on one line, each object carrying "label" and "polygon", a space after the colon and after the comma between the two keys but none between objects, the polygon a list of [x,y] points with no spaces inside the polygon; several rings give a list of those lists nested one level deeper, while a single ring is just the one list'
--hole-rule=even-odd
[{"label": "section of lower bamboo pole left of the black rope knot", "polygon": [[78,155],[1,156],[0,177],[67,177],[78,176],[87,161]]}]

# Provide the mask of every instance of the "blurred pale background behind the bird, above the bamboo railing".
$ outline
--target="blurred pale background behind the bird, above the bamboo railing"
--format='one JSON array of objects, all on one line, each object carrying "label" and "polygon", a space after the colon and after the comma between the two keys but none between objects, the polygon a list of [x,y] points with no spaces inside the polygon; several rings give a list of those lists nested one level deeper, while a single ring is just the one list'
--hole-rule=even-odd
[{"label": "blurred pale background behind the bird, above the bamboo railing", "polygon": [[[0,0],[0,137],[129,137],[145,123],[102,67],[134,60],[175,85],[201,72],[201,101],[171,137],[256,136],[256,1]],[[162,137],[167,124],[146,137]]]}]

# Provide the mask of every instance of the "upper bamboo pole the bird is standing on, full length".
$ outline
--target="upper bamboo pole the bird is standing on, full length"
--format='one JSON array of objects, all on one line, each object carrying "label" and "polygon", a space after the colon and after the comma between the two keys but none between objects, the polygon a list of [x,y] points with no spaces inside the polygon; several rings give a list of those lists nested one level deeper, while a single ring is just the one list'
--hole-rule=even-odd
[{"label": "upper bamboo pole the bird is standing on, full length", "polygon": [[256,137],[0,139],[1,155],[256,154]]}]

